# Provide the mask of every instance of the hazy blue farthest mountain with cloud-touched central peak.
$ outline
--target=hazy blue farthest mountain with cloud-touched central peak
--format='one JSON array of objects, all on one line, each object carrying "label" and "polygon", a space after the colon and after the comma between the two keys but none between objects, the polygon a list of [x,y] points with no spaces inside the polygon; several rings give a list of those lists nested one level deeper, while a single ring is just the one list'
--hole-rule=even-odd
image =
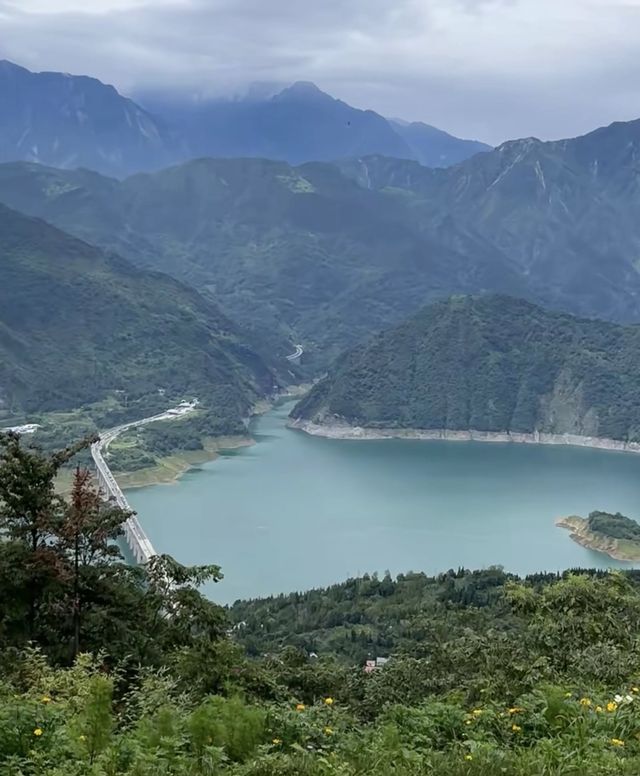
[{"label": "hazy blue farthest mountain with cloud-touched central peak", "polygon": [[[144,98],[143,98],[144,99]],[[194,103],[148,98],[192,156],[264,157],[290,164],[384,154],[446,167],[489,146],[426,124],[390,121],[297,82],[275,94]]]}]

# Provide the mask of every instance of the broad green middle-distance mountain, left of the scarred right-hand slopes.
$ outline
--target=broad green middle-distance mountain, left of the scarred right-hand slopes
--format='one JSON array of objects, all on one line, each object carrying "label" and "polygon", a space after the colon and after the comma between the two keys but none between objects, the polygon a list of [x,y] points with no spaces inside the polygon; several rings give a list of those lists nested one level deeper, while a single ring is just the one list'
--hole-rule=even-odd
[{"label": "broad green middle-distance mountain, left of the scarred right-hand slopes", "polygon": [[486,242],[445,247],[407,197],[330,164],[200,159],[122,182],[7,164],[0,201],[212,294],[273,352],[302,342],[319,367],[430,299],[527,289]]}]

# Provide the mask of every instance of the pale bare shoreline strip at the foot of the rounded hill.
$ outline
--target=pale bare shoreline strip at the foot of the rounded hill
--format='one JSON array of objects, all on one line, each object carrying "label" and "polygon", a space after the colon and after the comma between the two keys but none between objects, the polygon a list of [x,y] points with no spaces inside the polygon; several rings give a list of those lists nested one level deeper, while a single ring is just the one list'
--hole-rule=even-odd
[{"label": "pale bare shoreline strip at the foot of the rounded hill", "polygon": [[618,439],[581,436],[579,434],[478,431],[477,429],[454,431],[444,428],[365,428],[362,426],[350,426],[347,423],[314,423],[300,418],[290,420],[287,425],[289,428],[303,431],[305,434],[321,436],[327,439],[418,439],[443,442],[502,442],[532,445],[568,445],[571,447],[590,447],[598,450],[615,450],[621,453],[640,453],[640,442],[623,442]]}]

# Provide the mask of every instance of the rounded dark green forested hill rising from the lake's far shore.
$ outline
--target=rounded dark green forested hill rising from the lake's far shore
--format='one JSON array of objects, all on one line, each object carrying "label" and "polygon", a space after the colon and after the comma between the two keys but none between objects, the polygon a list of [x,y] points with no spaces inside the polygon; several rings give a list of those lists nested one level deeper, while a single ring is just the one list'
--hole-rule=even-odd
[{"label": "rounded dark green forested hill rising from the lake's far shore", "polygon": [[640,441],[640,325],[454,297],[341,357],[294,409],[364,428]]}]

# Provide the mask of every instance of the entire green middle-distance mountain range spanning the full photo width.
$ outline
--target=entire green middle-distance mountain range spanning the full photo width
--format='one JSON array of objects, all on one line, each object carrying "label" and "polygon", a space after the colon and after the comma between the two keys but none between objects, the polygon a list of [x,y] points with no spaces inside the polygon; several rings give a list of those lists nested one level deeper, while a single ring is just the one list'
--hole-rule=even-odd
[{"label": "entire green middle-distance mountain range spanning the full photo width", "polygon": [[313,369],[455,293],[640,320],[640,122],[448,169],[198,159],[123,181],[0,165],[0,201],[167,272]]}]

